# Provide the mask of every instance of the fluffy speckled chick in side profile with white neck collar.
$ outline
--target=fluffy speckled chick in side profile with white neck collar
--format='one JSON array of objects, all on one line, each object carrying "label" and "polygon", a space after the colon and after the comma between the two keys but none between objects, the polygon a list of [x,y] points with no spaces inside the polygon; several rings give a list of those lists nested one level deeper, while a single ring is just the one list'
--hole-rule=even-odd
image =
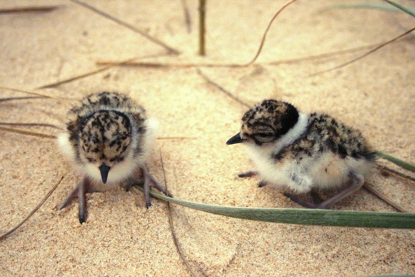
[{"label": "fluffy speckled chick in side profile with white neck collar", "polygon": [[285,193],[308,208],[327,209],[360,189],[376,158],[359,131],[327,114],[305,114],[277,100],[264,100],[245,113],[240,133],[226,144],[240,142],[248,146],[256,171],[239,176],[259,174],[259,186],[273,184],[294,193],[344,187],[324,202],[312,194],[315,203]]}]

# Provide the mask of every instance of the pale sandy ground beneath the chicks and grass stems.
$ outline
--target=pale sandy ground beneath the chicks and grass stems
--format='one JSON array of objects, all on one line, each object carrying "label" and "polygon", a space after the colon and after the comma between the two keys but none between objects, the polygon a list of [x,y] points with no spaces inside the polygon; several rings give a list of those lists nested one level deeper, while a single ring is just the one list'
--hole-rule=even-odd
[{"label": "pale sandy ground beneath the chicks and grass stems", "polygon": [[[400,1],[414,4],[413,1]],[[142,36],[71,2],[42,14],[0,15],[0,84],[29,89],[96,69],[98,59],[121,60],[164,53]],[[247,62],[282,1],[208,1],[207,56],[197,56],[197,2],[188,3],[192,32],[181,1],[90,1],[179,49],[180,56],[153,62]],[[305,111],[325,111],[359,128],[376,149],[415,163],[414,39],[386,46],[331,73],[315,71],[358,53],[291,64],[270,61],[306,57],[389,40],[412,28],[414,18],[373,10],[324,10],[340,1],[299,1],[272,27],[259,65],[244,69],[201,68],[210,79],[250,103],[274,97]],[[1,1],[0,7],[15,6]],[[414,37],[412,37],[414,38]],[[363,53],[362,51],[359,53]],[[246,108],[207,84],[195,68],[119,67],[39,92],[81,97],[117,90],[139,99],[161,122],[148,165],[162,180],[163,152],[169,189],[181,199],[249,207],[297,208],[257,178],[236,174],[251,168],[241,145],[225,145],[238,132]],[[1,90],[1,97],[25,94]],[[0,103],[0,121],[64,119],[69,105],[53,99]],[[54,129],[33,128],[48,134]],[[89,218],[78,204],[57,206],[79,180],[52,139],[0,133],[0,231],[27,215],[58,179],[67,177],[42,208],[0,242],[0,276],[190,276],[173,243],[166,203],[116,188],[88,195]],[[375,172],[370,182],[415,212],[414,183]],[[362,189],[336,209],[395,211]],[[415,232],[258,223],[172,205],[176,235],[198,276],[355,276],[414,273]]]}]

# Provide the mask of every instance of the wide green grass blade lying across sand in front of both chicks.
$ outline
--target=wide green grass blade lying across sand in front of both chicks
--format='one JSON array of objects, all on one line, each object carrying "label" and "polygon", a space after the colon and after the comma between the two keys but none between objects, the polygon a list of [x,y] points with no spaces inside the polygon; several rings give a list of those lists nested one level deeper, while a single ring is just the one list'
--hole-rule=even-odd
[{"label": "wide green grass blade lying across sand in front of both chicks", "polygon": [[[141,186],[138,188],[142,189]],[[319,226],[415,229],[415,214],[413,213],[230,207],[171,198],[152,190],[150,193],[153,197],[191,209],[254,221]]]}]

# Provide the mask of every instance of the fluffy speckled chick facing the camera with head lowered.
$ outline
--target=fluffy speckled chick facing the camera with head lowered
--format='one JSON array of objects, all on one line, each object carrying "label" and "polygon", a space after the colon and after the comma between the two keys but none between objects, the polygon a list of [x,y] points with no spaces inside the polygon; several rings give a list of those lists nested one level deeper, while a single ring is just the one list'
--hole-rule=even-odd
[{"label": "fluffy speckled chick facing the camera with head lowered", "polygon": [[58,137],[63,153],[83,174],[60,208],[78,196],[79,221],[83,223],[87,216],[86,192],[103,191],[117,184],[129,189],[135,183],[144,183],[147,208],[151,206],[150,185],[170,195],[146,168],[156,127],[157,122],[147,117],[144,108],[126,95],[101,92],[84,97],[68,112],[66,129]]}]

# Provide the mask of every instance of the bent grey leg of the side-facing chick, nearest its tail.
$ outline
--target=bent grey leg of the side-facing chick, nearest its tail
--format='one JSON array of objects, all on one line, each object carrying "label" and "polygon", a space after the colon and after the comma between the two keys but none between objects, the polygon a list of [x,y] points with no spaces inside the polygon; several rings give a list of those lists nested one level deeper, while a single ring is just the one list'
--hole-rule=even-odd
[{"label": "bent grey leg of the side-facing chick, nearest its tail", "polygon": [[298,196],[292,195],[290,193],[284,193],[285,196],[289,197],[292,201],[300,204],[303,207],[306,208],[314,208],[314,209],[328,209],[329,207],[331,207],[334,203],[344,199],[345,197],[349,196],[350,194],[358,191],[363,183],[364,183],[364,178],[362,175],[360,174],[355,174],[355,173],[349,173],[349,178],[351,179],[351,184],[350,186],[346,187],[345,189],[343,189],[342,191],[340,191],[339,193],[337,193],[336,195],[334,195],[332,198],[319,203],[319,204],[313,204],[310,203],[304,199],[299,198]]}]

